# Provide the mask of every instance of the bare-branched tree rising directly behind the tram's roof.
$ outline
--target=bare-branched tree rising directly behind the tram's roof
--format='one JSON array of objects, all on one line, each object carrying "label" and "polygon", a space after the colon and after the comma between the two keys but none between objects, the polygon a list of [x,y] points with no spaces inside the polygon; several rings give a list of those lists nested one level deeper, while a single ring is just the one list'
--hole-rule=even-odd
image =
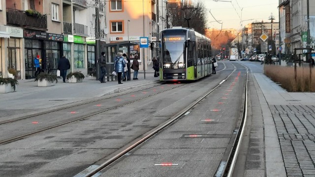
[{"label": "bare-branched tree rising directly behind the tram's roof", "polygon": [[[192,9],[195,8],[195,9]],[[187,20],[189,19],[189,28],[205,34],[207,20],[207,9],[202,1],[192,3],[190,0],[184,0],[183,4],[179,2],[170,3],[168,5],[168,17],[171,26],[188,28]]]}]

